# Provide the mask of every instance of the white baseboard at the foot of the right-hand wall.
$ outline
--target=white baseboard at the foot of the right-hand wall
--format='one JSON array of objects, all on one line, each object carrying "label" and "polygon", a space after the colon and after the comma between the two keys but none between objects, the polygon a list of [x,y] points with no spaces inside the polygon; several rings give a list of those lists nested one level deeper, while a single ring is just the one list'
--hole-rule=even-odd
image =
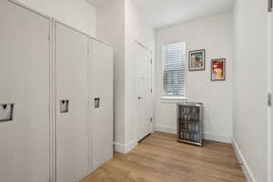
[{"label": "white baseboard at the foot of the right-hand wall", "polygon": [[238,158],[238,161],[242,164],[242,168],[243,168],[245,176],[247,177],[248,182],[256,182],[251,169],[248,167],[248,162],[247,162],[246,158],[243,156],[243,153],[241,152],[240,148],[238,147],[238,144],[235,141],[235,139],[232,139],[232,145],[233,145],[235,154]]}]

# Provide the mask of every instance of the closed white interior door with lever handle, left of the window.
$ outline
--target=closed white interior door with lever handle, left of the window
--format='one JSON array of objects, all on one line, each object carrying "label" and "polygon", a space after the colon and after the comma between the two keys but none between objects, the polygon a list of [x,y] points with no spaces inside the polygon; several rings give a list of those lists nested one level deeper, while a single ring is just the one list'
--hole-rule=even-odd
[{"label": "closed white interior door with lever handle, left of the window", "polygon": [[152,62],[151,53],[136,44],[136,128],[138,141],[151,133]]}]

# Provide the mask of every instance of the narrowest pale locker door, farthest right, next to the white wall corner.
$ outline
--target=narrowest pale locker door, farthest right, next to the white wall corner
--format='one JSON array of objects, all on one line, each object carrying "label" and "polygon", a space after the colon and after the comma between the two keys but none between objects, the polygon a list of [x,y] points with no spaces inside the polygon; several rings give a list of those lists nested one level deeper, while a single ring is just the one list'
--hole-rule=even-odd
[{"label": "narrowest pale locker door, farthest right, next to the white wall corner", "polygon": [[109,46],[93,40],[92,53],[93,73],[89,80],[93,80],[92,159],[95,170],[113,157],[113,52]]}]

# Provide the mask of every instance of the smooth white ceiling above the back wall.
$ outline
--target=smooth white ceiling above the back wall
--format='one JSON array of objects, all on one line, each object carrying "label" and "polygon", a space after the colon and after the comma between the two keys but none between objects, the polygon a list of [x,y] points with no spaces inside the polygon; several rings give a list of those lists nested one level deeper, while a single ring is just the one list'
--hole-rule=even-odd
[{"label": "smooth white ceiling above the back wall", "polygon": [[234,0],[133,0],[154,28],[232,11]]}]

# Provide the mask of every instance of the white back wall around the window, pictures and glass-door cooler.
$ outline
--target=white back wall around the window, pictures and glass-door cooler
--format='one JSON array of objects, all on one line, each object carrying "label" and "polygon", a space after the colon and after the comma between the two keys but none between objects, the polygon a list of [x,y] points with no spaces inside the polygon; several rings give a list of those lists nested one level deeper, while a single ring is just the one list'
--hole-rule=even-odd
[{"label": "white back wall around the window, pictures and glass-door cooler", "polygon": [[[187,101],[204,104],[205,138],[231,142],[233,16],[217,15],[157,30],[157,130],[176,133],[176,103],[162,96],[162,45],[185,41],[187,52],[206,49],[206,70],[187,72]],[[227,59],[227,80],[210,81],[210,61]]]}]

